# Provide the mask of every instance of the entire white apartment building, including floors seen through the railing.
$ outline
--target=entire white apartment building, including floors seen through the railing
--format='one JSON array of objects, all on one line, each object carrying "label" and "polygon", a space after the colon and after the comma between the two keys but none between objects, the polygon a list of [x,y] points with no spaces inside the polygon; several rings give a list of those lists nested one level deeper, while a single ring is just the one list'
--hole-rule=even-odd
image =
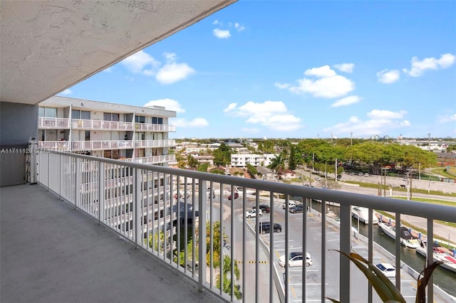
[{"label": "entire white apartment building, including floors seen through the railing", "polygon": [[[135,107],[68,97],[51,97],[39,104],[38,147],[53,151],[68,151],[108,159],[120,159],[144,164],[168,166],[175,159],[168,149],[175,147],[168,124],[176,113],[165,107]],[[46,160],[45,160],[46,161]],[[43,165],[43,164],[41,164]],[[45,164],[44,164],[45,165]],[[74,164],[68,166],[67,179],[81,188],[81,206],[95,207],[92,197],[98,167],[82,165],[83,178],[76,181]],[[104,195],[105,218],[121,233],[131,233],[133,227],[133,174],[131,169],[117,165],[103,167],[106,176]],[[170,201],[171,180],[157,174],[143,174],[142,220],[145,237],[150,230],[161,230],[170,238],[175,228],[164,225],[175,218]],[[72,186],[73,182],[71,182]]]}]

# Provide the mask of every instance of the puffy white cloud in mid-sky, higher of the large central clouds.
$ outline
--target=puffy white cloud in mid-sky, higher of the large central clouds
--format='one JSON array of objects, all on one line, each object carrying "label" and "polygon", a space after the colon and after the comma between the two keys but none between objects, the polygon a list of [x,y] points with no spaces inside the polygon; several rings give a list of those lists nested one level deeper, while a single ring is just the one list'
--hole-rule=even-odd
[{"label": "puffy white cloud in mid-sky, higher of the large central clouds", "polygon": [[[309,93],[314,97],[336,98],[343,97],[355,89],[355,83],[350,79],[337,75],[328,65],[320,68],[311,68],[304,75],[315,76],[316,80],[301,78],[296,80],[298,85],[289,86],[289,90],[297,95]],[[285,87],[285,84],[281,85]]]}]

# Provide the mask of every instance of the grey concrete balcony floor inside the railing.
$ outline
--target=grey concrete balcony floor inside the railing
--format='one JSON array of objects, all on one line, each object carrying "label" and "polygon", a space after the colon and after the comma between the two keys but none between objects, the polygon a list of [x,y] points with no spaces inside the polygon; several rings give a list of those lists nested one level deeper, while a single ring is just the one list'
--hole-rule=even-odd
[{"label": "grey concrete balcony floor inside the railing", "polygon": [[1,302],[222,302],[42,186],[0,207]]}]

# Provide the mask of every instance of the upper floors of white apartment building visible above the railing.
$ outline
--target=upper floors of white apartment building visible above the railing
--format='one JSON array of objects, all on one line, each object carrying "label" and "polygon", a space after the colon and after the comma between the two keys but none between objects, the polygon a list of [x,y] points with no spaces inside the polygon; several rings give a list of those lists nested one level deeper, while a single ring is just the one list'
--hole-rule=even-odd
[{"label": "upper floors of white apartment building visible above the railing", "polygon": [[55,96],[39,104],[38,147],[166,166],[175,159],[170,117],[165,107]]}]

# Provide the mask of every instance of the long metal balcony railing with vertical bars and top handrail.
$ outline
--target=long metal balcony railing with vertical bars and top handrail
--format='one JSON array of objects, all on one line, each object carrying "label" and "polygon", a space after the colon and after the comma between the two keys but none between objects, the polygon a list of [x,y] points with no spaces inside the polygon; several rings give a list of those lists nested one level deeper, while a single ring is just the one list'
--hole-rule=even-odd
[{"label": "long metal balcony railing with vertical bars and top handrail", "polygon": [[[373,242],[373,209],[395,213],[399,222],[401,214],[424,218],[427,224],[422,228],[427,232],[428,243],[433,242],[435,220],[456,223],[456,207],[451,206],[50,151],[38,153],[38,182],[192,278],[200,290],[208,289],[226,301],[237,300],[240,289],[243,302],[272,302],[275,297],[291,302],[291,294],[299,294],[302,302],[324,302],[326,297],[354,302],[351,292],[356,289],[356,297],[364,298],[362,302],[373,302],[372,288],[366,280],[356,280],[357,272],[351,262],[330,251],[336,248],[351,252],[356,242],[351,228],[351,206],[369,209],[365,257],[371,262],[378,249]],[[177,201],[174,193],[182,199]],[[331,225],[333,220],[320,216],[312,205],[309,213],[293,215],[289,213],[289,202],[297,200],[305,201],[306,206],[311,201],[322,201],[324,214],[324,202],[338,203],[340,219]],[[269,204],[270,213],[264,217],[281,224],[281,232],[261,235],[259,223],[265,219],[244,216],[252,206],[259,208],[260,203]],[[224,236],[217,235],[216,229],[222,230]],[[176,233],[174,237],[170,237],[174,235],[172,230]],[[330,237],[336,237],[338,245]],[[396,239],[399,238],[397,232]],[[297,272],[288,266],[279,267],[276,252],[289,255],[292,248],[314,251],[313,267],[299,267]],[[432,245],[428,245],[427,255],[432,255]],[[430,264],[432,258],[427,262]],[[223,283],[217,287],[217,264],[224,264],[224,279],[237,277],[237,273],[240,279],[233,279],[228,289],[222,288]],[[396,287],[404,287],[401,283],[409,285],[410,281],[401,280],[400,240],[395,240],[395,267]],[[295,275],[294,280],[290,275]],[[313,281],[310,284],[309,279]],[[434,302],[438,287],[432,285],[432,279],[430,282],[427,302]]]}]

